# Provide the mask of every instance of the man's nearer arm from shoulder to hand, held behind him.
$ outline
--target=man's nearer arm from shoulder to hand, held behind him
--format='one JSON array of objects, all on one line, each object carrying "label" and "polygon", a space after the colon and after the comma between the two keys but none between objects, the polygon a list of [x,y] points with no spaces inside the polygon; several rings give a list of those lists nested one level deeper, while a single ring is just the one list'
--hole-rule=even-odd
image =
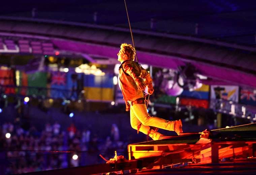
[{"label": "man's nearer arm from shoulder to hand, held behind him", "polygon": [[125,73],[127,73],[128,75],[130,75],[132,77],[132,79],[135,81],[137,87],[140,90],[145,90],[146,85],[143,82],[143,79],[140,78],[140,72],[134,67],[134,65],[132,65],[131,63],[127,62],[123,65],[123,70]]}]

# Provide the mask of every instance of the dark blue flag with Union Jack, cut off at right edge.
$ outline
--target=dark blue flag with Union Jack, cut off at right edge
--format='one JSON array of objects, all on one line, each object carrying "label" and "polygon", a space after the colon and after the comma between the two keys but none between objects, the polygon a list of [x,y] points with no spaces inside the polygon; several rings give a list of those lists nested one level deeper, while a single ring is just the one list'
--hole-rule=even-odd
[{"label": "dark blue flag with Union Jack, cut off at right edge", "polygon": [[240,103],[256,106],[256,90],[241,88]]}]

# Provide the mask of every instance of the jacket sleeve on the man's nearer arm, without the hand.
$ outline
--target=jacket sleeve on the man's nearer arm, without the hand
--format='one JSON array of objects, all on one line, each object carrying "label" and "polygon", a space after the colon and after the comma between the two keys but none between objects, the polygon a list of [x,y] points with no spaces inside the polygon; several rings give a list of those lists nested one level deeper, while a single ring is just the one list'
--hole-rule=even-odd
[{"label": "jacket sleeve on the man's nearer arm, without the hand", "polygon": [[125,63],[123,65],[123,70],[132,77],[136,84],[143,82],[143,79],[139,77],[140,71],[138,71],[131,63]]}]

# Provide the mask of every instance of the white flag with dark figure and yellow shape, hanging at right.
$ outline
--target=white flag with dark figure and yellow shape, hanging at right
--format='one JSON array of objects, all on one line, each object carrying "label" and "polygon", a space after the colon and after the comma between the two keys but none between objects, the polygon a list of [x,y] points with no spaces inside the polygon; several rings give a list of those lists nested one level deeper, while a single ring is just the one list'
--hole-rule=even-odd
[{"label": "white flag with dark figure and yellow shape, hanging at right", "polygon": [[238,86],[211,85],[211,99],[238,102]]}]

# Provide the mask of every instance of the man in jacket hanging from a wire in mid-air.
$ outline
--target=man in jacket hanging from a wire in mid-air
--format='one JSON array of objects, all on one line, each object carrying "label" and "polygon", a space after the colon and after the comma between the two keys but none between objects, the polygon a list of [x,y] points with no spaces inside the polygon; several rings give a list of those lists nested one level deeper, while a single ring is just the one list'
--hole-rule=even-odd
[{"label": "man in jacket hanging from a wire in mid-air", "polygon": [[135,50],[131,44],[123,43],[118,52],[119,86],[126,102],[126,111],[130,110],[130,121],[133,129],[149,135],[153,140],[161,139],[162,134],[152,127],[182,133],[181,120],[169,121],[150,116],[147,112],[143,92],[148,87],[148,94],[153,94],[154,89],[150,74],[137,62],[134,62]]}]

